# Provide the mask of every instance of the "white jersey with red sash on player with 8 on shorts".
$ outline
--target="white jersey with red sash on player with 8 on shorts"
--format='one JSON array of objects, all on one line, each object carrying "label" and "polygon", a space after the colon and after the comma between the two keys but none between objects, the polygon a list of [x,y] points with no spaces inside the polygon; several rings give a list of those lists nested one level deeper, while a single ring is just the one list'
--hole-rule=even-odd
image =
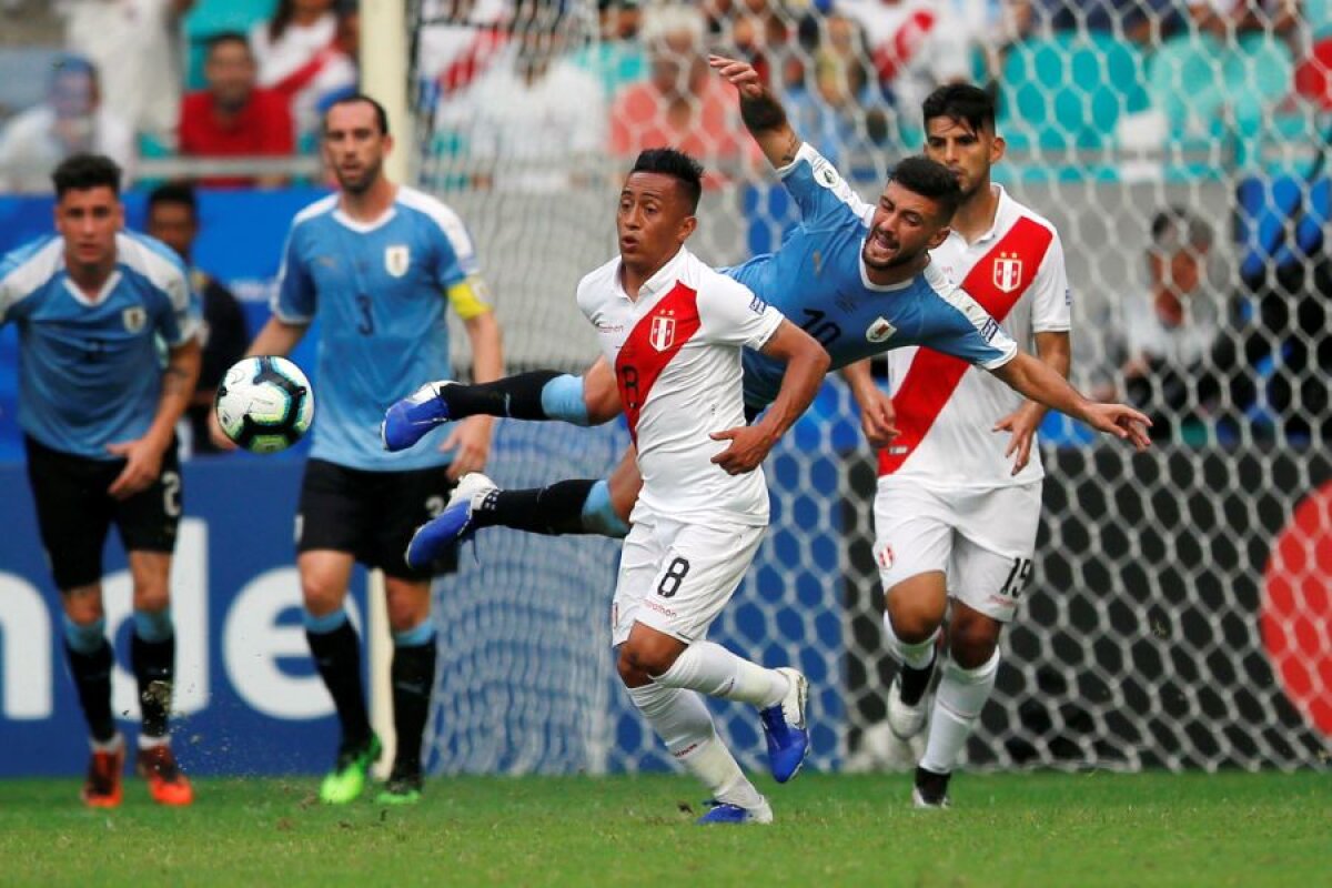
[{"label": "white jersey with red sash on player with 8 on shorts", "polygon": [[578,308],[615,367],[643,490],[633,521],[767,523],[762,469],[729,475],[709,435],[745,425],[741,349],[762,349],[783,317],[743,284],[681,248],[630,300],[621,261],[578,284]]}]

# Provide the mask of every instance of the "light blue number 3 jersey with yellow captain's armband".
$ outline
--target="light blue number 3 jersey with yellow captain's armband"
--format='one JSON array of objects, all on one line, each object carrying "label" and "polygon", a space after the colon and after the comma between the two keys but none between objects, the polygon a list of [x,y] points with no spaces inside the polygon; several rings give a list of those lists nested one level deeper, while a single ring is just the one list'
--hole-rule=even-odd
[{"label": "light blue number 3 jersey with yellow captain's armband", "polygon": [[458,216],[421,192],[398,188],[393,208],[361,224],[337,194],[292,221],[273,313],[320,321],[314,445],[310,457],[350,469],[398,471],[449,461],[432,434],[386,453],[380,419],[417,386],[450,377],[446,309],[464,320],[489,310],[468,280],[477,273]]}]

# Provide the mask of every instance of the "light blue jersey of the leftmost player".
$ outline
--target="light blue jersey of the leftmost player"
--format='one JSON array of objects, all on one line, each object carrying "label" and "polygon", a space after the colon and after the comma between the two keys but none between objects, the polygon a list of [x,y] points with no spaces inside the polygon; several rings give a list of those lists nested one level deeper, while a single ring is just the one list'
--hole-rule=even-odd
[{"label": "light blue jersey of the leftmost player", "polygon": [[96,297],[65,270],[60,236],[0,260],[0,324],[19,328],[19,426],[37,442],[92,459],[141,438],[157,415],[163,358],[202,314],[185,266],[143,234],[116,236],[116,270]]}]

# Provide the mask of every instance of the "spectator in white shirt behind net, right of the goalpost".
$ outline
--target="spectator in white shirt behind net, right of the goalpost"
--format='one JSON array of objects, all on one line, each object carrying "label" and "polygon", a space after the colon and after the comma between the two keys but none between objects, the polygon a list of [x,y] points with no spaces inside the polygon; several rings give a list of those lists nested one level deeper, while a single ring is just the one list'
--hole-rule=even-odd
[{"label": "spectator in white shirt behind net, right of the goalpost", "polygon": [[478,161],[474,185],[555,192],[586,178],[606,144],[606,100],[595,75],[565,49],[571,17],[550,3],[514,8],[502,56],[442,120]]}]

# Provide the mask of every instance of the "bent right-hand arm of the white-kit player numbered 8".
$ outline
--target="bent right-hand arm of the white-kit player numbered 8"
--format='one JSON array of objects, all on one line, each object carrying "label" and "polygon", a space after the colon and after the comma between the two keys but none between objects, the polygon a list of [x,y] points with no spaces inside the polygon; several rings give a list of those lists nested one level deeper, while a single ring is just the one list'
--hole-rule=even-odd
[{"label": "bent right-hand arm of the white-kit player numbered 8", "polygon": [[713,457],[713,462],[731,475],[758,469],[773,445],[814,401],[830,363],[823,346],[790,321],[782,321],[763,346],[763,354],[786,362],[777,399],[759,422],[711,434],[713,441],[731,442],[726,450]]}]

